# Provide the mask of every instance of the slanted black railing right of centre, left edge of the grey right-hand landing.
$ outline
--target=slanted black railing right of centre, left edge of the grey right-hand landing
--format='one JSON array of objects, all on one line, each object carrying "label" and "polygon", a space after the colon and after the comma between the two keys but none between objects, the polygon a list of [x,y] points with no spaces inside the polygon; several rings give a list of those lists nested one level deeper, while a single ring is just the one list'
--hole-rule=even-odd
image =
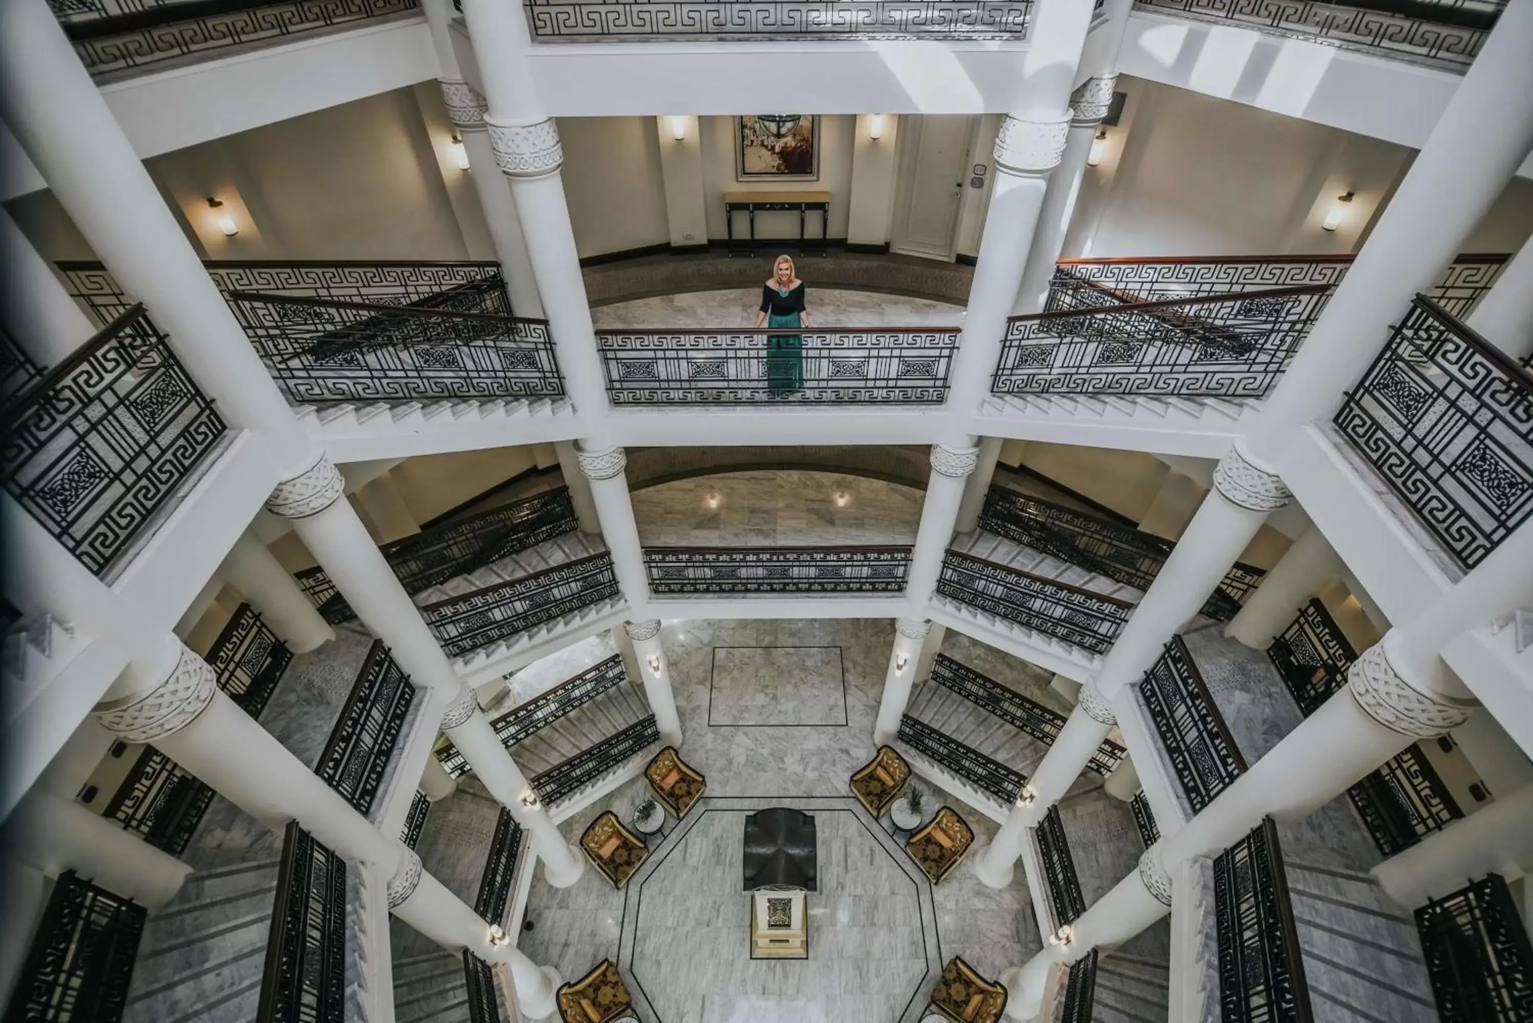
[{"label": "slanted black railing right of centre, left edge of the grey right-hand landing", "polygon": [[1243,775],[1246,762],[1182,636],[1165,644],[1139,692],[1196,813]]}]

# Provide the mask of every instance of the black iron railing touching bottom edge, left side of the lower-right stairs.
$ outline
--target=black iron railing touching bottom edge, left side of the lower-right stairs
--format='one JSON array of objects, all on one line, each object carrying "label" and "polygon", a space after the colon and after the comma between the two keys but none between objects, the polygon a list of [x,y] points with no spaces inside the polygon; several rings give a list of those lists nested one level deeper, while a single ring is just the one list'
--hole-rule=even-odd
[{"label": "black iron railing touching bottom edge, left side of the lower-right stairs", "polygon": [[1309,1023],[1283,850],[1266,817],[1214,859],[1219,1000],[1228,1023]]}]

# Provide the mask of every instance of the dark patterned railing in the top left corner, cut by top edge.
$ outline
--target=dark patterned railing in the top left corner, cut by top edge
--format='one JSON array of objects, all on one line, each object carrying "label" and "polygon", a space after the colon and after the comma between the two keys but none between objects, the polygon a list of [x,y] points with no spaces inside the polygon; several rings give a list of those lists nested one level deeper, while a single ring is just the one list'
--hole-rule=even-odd
[{"label": "dark patterned railing in the top left corner, cut by top edge", "polygon": [[420,0],[48,0],[94,75],[415,11]]}]

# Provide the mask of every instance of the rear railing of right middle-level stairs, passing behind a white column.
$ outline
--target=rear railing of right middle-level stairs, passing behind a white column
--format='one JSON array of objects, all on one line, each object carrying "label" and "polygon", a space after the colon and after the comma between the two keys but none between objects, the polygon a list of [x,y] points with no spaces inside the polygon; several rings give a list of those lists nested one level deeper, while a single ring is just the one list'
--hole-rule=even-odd
[{"label": "rear railing of right middle-level stairs, passing behind a white column", "polygon": [[[1176,546],[1153,532],[1004,486],[992,486],[984,495],[980,528],[1139,590],[1150,589]],[[1203,603],[1202,613],[1229,621],[1265,574],[1236,561]]]}]

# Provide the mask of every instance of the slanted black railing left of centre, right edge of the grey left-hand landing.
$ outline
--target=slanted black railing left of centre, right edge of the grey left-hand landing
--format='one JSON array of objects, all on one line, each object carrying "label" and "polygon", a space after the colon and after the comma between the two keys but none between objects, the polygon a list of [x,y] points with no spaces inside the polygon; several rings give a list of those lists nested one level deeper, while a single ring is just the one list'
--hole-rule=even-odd
[{"label": "slanted black railing left of centre, right edge of the grey left-hand landing", "polygon": [[357,813],[373,810],[414,699],[409,675],[394,663],[383,641],[374,640],[314,765],[320,781]]}]

